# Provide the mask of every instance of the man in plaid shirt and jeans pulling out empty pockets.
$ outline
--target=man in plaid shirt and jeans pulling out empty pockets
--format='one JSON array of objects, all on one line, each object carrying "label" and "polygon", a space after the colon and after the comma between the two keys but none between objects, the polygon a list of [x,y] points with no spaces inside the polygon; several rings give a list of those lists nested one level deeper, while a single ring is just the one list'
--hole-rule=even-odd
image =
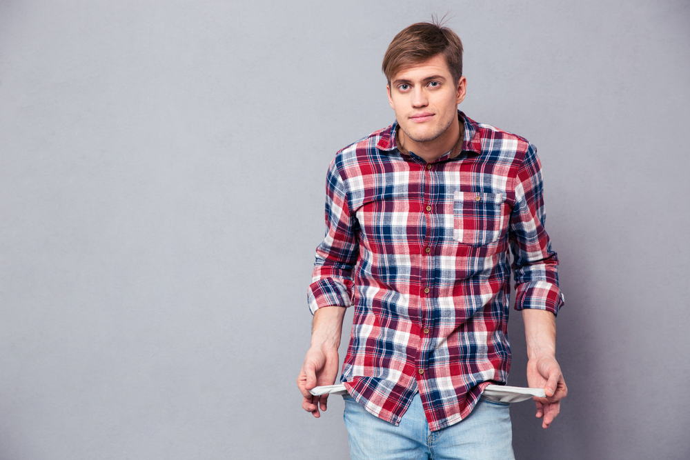
[{"label": "man in plaid shirt and jeans pulling out empty pockets", "polygon": [[308,390],[335,381],[353,306],[341,378],[353,459],[511,459],[508,405],[482,398],[508,378],[509,248],[544,428],[567,393],[536,149],[457,110],[467,81],[448,28],[402,30],[383,71],[396,123],[339,151],[328,170],[302,407],[326,410],[326,396]]}]

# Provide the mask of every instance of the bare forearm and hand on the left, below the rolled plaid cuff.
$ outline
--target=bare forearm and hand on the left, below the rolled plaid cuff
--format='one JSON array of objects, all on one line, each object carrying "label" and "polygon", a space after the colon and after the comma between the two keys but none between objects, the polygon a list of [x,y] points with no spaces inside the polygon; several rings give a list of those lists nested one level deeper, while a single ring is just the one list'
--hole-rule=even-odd
[{"label": "bare forearm and hand on the left, below the rolled plaid cuff", "polygon": [[316,386],[333,385],[338,374],[338,346],[342,332],[345,308],[322,307],[314,313],[311,347],[297,376],[297,387],[302,392],[302,408],[320,417],[319,407],[326,410],[328,394],[313,396],[309,390]]}]

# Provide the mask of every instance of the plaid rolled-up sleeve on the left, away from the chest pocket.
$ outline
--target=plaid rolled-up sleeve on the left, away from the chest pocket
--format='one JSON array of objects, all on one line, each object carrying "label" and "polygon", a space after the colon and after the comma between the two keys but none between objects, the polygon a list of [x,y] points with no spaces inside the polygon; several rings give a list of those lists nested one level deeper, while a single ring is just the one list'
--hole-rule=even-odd
[{"label": "plaid rolled-up sleeve on the left, away from the chest pocket", "polygon": [[309,309],[351,305],[352,272],[357,261],[357,219],[348,204],[348,193],[336,157],[326,176],[326,237],[316,249]]}]

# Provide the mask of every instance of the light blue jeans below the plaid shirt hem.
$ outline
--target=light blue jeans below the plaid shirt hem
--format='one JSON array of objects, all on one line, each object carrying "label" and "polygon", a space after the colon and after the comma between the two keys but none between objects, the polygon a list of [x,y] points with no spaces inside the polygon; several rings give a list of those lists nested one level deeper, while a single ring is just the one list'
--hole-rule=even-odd
[{"label": "light blue jeans below the plaid shirt hem", "polygon": [[510,405],[480,399],[466,419],[435,432],[428,429],[420,394],[398,426],[345,400],[345,425],[353,460],[514,460]]}]

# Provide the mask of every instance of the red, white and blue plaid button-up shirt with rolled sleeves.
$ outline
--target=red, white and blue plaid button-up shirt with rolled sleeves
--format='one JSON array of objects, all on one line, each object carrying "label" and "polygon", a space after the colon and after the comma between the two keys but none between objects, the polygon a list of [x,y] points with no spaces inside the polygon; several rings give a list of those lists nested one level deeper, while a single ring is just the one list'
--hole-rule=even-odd
[{"label": "red, white and blue plaid button-up shirt with rolled sleeves", "polygon": [[507,381],[509,246],[515,308],[563,304],[535,147],[458,114],[462,148],[432,163],[397,148],[397,123],[336,154],[308,292],[312,312],[355,306],[348,392],[397,425],[419,391],[433,431]]}]

